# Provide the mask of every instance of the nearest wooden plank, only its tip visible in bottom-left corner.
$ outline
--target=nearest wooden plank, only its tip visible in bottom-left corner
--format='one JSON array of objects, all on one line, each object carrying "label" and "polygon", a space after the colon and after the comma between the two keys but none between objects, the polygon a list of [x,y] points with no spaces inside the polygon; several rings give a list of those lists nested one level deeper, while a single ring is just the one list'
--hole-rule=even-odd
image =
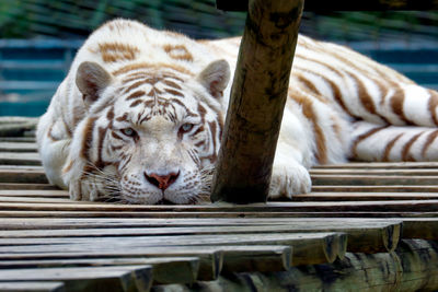
[{"label": "nearest wooden plank, only its tip visible in bottom-left corner", "polygon": [[62,282],[0,282],[0,292],[65,292]]}]

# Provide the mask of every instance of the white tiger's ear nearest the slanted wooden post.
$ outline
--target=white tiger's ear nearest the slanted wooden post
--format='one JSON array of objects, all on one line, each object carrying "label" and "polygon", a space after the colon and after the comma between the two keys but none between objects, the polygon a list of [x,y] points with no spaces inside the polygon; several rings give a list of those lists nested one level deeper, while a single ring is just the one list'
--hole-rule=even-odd
[{"label": "white tiger's ear nearest the slanted wooden post", "polygon": [[230,66],[226,60],[212,61],[199,73],[197,80],[212,96],[222,97],[230,81]]}]

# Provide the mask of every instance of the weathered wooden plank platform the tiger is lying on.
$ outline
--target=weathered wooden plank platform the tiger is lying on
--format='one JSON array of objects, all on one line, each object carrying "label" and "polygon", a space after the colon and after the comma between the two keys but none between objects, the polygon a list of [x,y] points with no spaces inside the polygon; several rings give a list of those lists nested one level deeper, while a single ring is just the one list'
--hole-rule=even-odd
[{"label": "weathered wooden plank platform the tiger is lying on", "polygon": [[0,291],[438,290],[438,164],[311,171],[289,202],[70,201],[0,138]]}]

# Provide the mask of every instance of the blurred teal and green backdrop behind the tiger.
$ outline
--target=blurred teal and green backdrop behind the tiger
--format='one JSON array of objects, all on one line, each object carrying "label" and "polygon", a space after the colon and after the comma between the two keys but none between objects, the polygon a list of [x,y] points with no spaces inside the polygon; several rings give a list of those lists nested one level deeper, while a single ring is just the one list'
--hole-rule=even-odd
[{"label": "blurred teal and green backdrop behind the tiger", "polygon": [[[39,116],[84,38],[129,17],[194,38],[241,35],[215,0],[0,0],[0,116]],[[346,44],[438,90],[438,12],[304,12],[301,33]]]}]

